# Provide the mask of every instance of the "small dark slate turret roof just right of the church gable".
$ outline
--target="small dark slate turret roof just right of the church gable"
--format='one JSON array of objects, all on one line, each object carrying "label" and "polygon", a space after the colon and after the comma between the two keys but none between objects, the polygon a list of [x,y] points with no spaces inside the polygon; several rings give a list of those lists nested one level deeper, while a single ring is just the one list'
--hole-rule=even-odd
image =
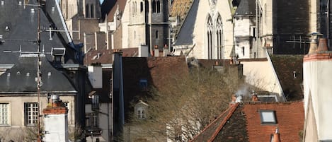
[{"label": "small dark slate turret roof just right of the church gable", "polygon": [[255,0],[241,0],[234,16],[255,16]]}]

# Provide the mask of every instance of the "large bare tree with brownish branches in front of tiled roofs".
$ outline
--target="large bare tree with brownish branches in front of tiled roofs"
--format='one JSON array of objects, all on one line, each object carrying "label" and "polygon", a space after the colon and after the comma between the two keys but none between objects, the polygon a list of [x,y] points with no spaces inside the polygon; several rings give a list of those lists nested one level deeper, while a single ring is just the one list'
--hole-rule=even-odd
[{"label": "large bare tree with brownish branches in front of tiled roofs", "polygon": [[[241,81],[238,74],[192,69],[188,76],[168,78],[163,88],[151,88],[147,119],[135,119],[134,132],[160,141],[188,141],[210,124],[231,100]],[[132,115],[136,116],[136,115]],[[132,130],[134,131],[134,130]]]}]

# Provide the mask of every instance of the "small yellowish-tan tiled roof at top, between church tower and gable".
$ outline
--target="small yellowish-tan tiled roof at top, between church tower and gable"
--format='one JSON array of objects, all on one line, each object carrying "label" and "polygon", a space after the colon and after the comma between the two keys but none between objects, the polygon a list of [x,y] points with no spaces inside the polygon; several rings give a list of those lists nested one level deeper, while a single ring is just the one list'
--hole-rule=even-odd
[{"label": "small yellowish-tan tiled roof at top, between church tower and gable", "polygon": [[171,6],[170,16],[185,17],[190,9],[191,4],[194,0],[175,0]]}]

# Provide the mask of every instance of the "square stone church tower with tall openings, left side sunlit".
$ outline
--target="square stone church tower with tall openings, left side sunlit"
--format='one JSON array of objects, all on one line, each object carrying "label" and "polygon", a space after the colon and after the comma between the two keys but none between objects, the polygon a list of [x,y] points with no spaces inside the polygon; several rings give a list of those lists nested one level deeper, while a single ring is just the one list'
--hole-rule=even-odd
[{"label": "square stone church tower with tall openings, left side sunlit", "polygon": [[[168,44],[168,3],[166,0],[127,1],[128,23],[122,42],[125,47],[148,45],[150,50]],[[125,23],[125,21],[123,21]],[[126,35],[127,32],[127,35]],[[125,38],[127,36],[127,38]],[[127,42],[127,43],[126,43]]]}]

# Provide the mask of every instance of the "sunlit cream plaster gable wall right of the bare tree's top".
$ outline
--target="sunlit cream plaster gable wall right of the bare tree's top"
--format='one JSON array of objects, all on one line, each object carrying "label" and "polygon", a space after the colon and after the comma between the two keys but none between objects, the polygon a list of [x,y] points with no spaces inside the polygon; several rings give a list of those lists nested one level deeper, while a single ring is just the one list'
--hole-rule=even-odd
[{"label": "sunlit cream plaster gable wall right of the bare tree's top", "polygon": [[241,64],[244,64],[246,83],[282,95],[280,84],[269,61],[241,61]]}]

